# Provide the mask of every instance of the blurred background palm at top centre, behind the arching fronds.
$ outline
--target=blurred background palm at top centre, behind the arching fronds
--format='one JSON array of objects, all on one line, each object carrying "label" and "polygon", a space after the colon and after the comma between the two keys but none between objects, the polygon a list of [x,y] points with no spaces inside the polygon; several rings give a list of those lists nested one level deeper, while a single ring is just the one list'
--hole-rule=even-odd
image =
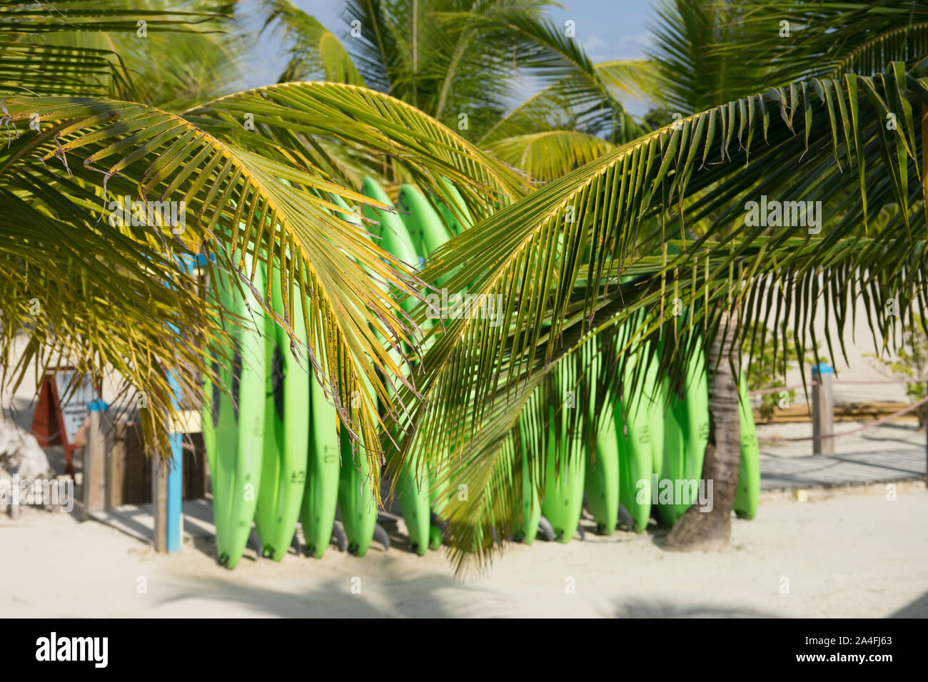
[{"label": "blurred background palm at top centre, behind the arching fronds", "polygon": [[[547,0],[345,0],[344,42],[293,6],[265,0],[289,45],[281,83],[367,85],[460,131],[547,182],[644,132],[623,105],[653,81],[643,59],[594,64]],[[542,87],[519,106],[518,85]]]}]

